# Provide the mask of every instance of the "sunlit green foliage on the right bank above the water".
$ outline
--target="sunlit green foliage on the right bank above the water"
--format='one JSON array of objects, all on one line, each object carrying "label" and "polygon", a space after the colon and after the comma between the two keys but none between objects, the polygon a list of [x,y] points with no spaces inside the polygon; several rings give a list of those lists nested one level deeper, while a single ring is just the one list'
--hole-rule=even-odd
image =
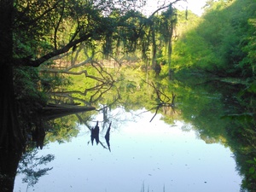
[{"label": "sunlit green foliage on the right bank above the water", "polygon": [[250,0],[209,1],[197,26],[189,26],[175,43],[174,68],[201,68],[221,77],[253,77],[255,8]]}]

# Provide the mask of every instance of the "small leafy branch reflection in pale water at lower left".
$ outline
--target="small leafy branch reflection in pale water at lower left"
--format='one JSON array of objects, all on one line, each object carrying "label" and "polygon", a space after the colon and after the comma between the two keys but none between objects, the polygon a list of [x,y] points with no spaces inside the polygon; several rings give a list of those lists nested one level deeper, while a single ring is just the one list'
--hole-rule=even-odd
[{"label": "small leafy branch reflection in pale water at lower left", "polygon": [[18,173],[25,174],[25,177],[22,179],[24,183],[27,183],[27,188],[34,186],[38,183],[40,177],[46,175],[47,172],[52,170],[46,166],[51,160],[55,159],[53,154],[47,154],[45,156],[38,157],[38,150],[35,149],[32,152],[23,154],[20,160],[20,166],[18,167]]}]

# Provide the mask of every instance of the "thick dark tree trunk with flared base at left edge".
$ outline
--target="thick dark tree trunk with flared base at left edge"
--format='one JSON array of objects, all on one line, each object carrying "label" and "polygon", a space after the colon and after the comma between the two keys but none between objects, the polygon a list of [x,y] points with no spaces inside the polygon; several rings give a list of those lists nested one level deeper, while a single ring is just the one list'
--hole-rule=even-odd
[{"label": "thick dark tree trunk with flared base at left edge", "polygon": [[22,131],[15,110],[13,82],[13,0],[0,0],[0,147],[20,148]]}]

